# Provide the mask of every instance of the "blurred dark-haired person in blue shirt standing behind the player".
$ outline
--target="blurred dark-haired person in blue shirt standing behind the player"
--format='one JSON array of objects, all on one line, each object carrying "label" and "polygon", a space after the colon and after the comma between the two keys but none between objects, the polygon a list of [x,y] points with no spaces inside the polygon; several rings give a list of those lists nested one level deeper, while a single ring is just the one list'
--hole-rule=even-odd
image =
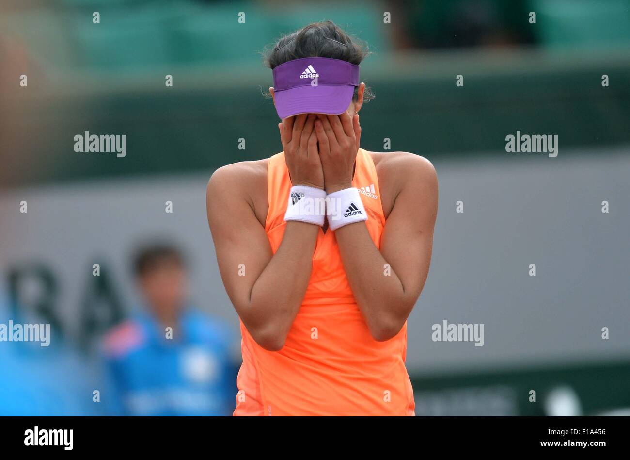
[{"label": "blurred dark-haired person in blue shirt standing behind the player", "polygon": [[110,331],[104,343],[120,411],[229,415],[236,397],[229,329],[188,308],[180,252],[169,245],[144,249],[135,274],[147,308]]}]

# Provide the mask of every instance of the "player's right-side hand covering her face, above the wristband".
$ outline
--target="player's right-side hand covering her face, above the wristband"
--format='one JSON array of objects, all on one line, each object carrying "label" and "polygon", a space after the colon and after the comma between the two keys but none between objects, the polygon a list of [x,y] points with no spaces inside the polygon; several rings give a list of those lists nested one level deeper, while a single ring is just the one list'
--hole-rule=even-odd
[{"label": "player's right-side hand covering her face, above the wristband", "polygon": [[319,158],[324,170],[326,193],[352,187],[352,175],[361,139],[358,114],[318,114],[315,133],[319,143]]}]

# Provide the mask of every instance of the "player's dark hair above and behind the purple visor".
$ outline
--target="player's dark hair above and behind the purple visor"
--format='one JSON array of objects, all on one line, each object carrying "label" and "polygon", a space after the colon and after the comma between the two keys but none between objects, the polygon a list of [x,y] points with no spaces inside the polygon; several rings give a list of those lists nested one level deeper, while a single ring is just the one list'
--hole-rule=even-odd
[{"label": "player's dark hair above and behind the purple visor", "polygon": [[[316,22],[284,35],[263,52],[266,66],[275,69],[280,64],[302,57],[330,57],[358,66],[370,54],[367,44],[350,37],[333,21]],[[357,100],[357,89],[352,100]],[[365,87],[364,102],[374,99]]]}]

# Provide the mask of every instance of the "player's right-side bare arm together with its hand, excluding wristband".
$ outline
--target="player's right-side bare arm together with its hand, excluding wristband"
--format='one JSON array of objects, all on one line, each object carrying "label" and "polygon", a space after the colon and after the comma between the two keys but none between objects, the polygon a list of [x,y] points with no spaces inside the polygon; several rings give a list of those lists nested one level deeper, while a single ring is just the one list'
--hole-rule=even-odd
[{"label": "player's right-side bare arm together with its hand, excluding wristband", "polygon": [[[352,166],[361,137],[358,114],[320,116],[315,129],[326,192],[352,187]],[[401,186],[387,217],[381,251],[362,221],[335,231],[357,305],[370,334],[381,341],[398,334],[425,285],[437,215],[433,165],[411,154],[398,154],[388,161],[392,161],[390,177]]]}]

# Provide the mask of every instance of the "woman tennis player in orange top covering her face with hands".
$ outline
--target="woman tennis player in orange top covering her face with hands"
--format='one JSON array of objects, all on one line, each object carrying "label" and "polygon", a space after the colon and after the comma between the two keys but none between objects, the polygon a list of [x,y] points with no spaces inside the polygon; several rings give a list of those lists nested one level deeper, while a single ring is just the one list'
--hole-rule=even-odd
[{"label": "woman tennis player in orange top covering her face with hands", "polygon": [[360,148],[365,49],[330,21],[267,57],[283,151],[219,168],[212,239],[241,318],[234,415],[414,415],[406,320],[437,214],[428,160]]}]

